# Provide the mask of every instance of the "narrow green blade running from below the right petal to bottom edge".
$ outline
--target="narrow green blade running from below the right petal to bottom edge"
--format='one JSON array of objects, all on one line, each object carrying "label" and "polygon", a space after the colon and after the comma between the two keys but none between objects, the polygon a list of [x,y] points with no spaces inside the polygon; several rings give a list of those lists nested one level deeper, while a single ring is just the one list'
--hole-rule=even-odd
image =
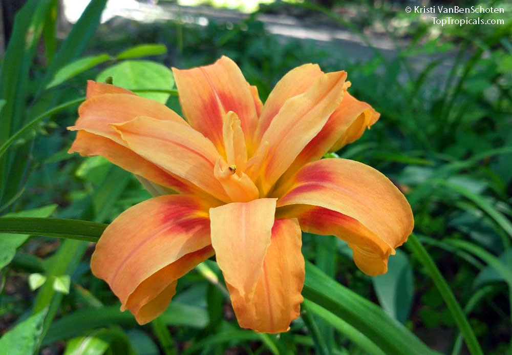
[{"label": "narrow green blade running from below the right petal to bottom edge", "polygon": [[468,350],[470,350],[470,353],[472,355],[483,355],[482,348],[480,347],[477,337],[471,328],[470,322],[468,322],[464,312],[462,311],[462,308],[460,307],[460,304],[457,302],[457,299],[450,289],[450,286],[439,272],[439,269],[430,257],[429,253],[426,252],[426,249],[414,234],[411,234],[406,245],[412,249],[413,253],[426,269],[426,272],[432,278],[432,281],[434,281],[434,284],[439,290],[439,293],[441,294],[444,302],[448,306],[448,309],[450,310],[455,323],[459,327],[459,330],[464,337],[464,341]]}]

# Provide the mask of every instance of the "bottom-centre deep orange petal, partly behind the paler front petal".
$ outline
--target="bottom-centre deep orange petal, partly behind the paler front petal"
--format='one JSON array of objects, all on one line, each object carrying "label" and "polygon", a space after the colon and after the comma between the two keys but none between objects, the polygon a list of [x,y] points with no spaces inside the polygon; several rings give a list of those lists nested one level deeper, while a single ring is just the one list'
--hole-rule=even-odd
[{"label": "bottom-centre deep orange petal, partly behind the paler front petal", "polygon": [[274,222],[263,272],[252,299],[247,302],[228,284],[231,303],[241,327],[266,333],[290,329],[304,300],[301,295],[305,274],[301,246],[301,229],[296,219]]}]

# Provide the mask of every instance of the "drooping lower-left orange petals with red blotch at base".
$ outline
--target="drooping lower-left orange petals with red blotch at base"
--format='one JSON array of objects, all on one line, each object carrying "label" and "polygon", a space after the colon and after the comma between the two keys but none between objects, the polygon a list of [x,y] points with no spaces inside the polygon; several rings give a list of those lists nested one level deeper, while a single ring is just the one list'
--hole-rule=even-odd
[{"label": "drooping lower-left orange petals with red blotch at base", "polygon": [[193,196],[155,197],[123,212],[103,232],[91,270],[140,323],[158,317],[173,283],[211,255],[208,207]]}]

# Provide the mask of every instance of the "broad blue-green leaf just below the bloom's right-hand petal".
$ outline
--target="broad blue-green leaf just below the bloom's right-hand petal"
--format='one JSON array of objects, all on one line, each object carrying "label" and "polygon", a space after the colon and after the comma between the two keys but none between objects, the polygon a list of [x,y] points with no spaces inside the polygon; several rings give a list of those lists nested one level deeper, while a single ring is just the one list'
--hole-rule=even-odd
[{"label": "broad blue-green leaf just below the bloom's right-hand petal", "polygon": [[388,272],[372,278],[380,305],[388,315],[406,323],[413,303],[413,270],[401,250],[389,258]]}]

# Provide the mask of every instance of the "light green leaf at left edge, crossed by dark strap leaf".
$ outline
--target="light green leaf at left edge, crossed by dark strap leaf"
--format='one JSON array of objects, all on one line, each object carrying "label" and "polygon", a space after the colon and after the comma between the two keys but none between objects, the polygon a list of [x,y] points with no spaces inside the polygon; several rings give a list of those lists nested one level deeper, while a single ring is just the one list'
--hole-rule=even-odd
[{"label": "light green leaf at left edge, crossed by dark strap leaf", "polygon": [[[33,210],[26,210],[16,213],[9,213],[3,217],[48,217],[57,207],[56,204],[51,204],[45,207],[34,208]],[[21,246],[29,234],[6,234],[0,233],[0,269],[9,264],[16,254],[16,249]]]}]

